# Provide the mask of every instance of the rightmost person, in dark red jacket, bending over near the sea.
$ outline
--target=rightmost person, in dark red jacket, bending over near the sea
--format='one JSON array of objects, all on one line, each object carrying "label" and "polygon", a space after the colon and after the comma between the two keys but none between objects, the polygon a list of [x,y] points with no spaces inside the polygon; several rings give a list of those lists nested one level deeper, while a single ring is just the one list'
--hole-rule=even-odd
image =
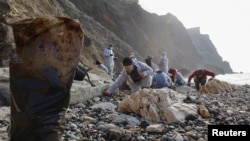
[{"label": "rightmost person, in dark red jacket, bending over near the sea", "polygon": [[213,79],[215,77],[215,73],[208,71],[206,69],[198,69],[195,70],[189,77],[187,85],[190,86],[190,81],[194,78],[195,88],[197,91],[200,90],[200,85],[203,86],[207,82],[207,76],[211,76]]}]

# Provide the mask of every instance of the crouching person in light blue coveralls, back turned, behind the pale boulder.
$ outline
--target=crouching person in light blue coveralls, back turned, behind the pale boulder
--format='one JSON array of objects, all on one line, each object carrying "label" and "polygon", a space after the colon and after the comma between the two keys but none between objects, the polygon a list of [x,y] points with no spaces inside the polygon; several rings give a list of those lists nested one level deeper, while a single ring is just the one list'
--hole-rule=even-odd
[{"label": "crouching person in light blue coveralls, back turned, behind the pale boulder", "polygon": [[172,81],[171,78],[163,71],[157,70],[153,74],[152,87],[154,88],[163,88],[163,87],[171,87]]}]

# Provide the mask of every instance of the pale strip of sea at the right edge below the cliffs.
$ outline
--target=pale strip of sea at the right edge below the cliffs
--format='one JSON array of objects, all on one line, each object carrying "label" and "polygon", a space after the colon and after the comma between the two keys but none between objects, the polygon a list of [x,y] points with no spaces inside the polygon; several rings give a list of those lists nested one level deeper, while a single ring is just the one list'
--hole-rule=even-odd
[{"label": "pale strip of sea at the right edge below the cliffs", "polygon": [[216,79],[236,85],[250,85],[250,73],[216,75]]}]

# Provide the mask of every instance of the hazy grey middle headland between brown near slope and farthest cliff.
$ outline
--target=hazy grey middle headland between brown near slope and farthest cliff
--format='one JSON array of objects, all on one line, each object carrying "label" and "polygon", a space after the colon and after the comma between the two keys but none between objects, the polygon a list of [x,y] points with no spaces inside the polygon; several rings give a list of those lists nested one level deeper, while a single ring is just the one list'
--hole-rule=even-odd
[{"label": "hazy grey middle headland between brown near slope and farthest cliff", "polygon": [[[200,56],[186,29],[172,14],[157,16],[144,11],[138,3],[119,0],[71,1],[79,10],[128,43],[139,53],[136,55],[139,60],[151,55],[155,56],[153,62],[158,64],[161,52],[166,51],[170,66],[189,70],[197,67]],[[185,62],[186,57],[193,61]]]}]

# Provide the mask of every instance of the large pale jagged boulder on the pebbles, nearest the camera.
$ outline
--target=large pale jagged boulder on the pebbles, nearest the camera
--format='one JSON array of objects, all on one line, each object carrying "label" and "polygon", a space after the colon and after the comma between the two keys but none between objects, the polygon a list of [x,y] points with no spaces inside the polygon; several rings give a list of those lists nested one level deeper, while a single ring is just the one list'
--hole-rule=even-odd
[{"label": "large pale jagged boulder on the pebbles, nearest the camera", "polygon": [[143,89],[126,96],[117,111],[133,112],[152,122],[183,121],[187,116],[197,116],[195,104],[182,102],[185,97],[168,88]]}]

